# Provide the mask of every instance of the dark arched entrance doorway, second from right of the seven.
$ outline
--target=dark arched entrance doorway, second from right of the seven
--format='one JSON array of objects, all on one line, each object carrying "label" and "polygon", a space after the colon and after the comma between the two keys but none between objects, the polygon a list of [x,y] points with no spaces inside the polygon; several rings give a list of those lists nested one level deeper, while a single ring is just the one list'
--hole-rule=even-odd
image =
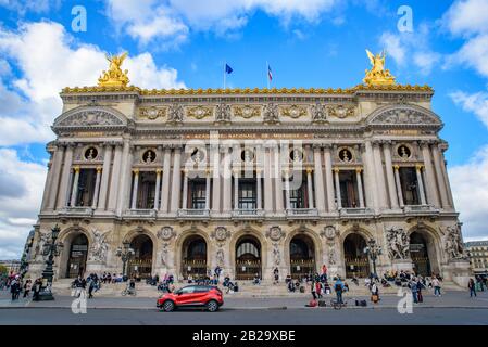
[{"label": "dark arched entrance doorway, second from right of the seven", "polygon": [[370,275],[370,259],[364,253],[365,247],[366,240],[359,233],[351,233],[345,239],[346,278],[367,278]]}]

